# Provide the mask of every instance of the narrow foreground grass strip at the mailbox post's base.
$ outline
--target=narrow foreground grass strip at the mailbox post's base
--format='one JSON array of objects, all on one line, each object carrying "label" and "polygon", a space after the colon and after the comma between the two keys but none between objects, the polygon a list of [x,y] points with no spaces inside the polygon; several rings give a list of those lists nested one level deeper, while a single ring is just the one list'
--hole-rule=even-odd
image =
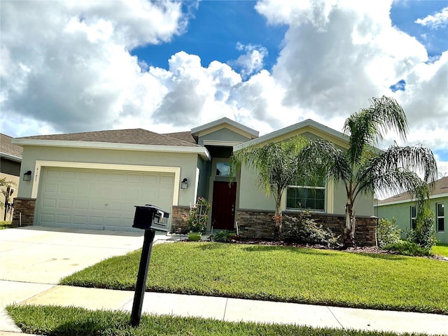
[{"label": "narrow foreground grass strip at the mailbox post's base", "polygon": [[[123,311],[90,311],[76,307],[10,305],[6,307],[15,323],[27,333],[43,335],[336,335],[393,336],[393,332],[366,332],[297,325],[224,322],[210,318],[150,316],[143,314],[137,328],[130,326],[130,314]],[[409,334],[400,334],[409,335]],[[416,334],[412,334],[416,335]]]}]

